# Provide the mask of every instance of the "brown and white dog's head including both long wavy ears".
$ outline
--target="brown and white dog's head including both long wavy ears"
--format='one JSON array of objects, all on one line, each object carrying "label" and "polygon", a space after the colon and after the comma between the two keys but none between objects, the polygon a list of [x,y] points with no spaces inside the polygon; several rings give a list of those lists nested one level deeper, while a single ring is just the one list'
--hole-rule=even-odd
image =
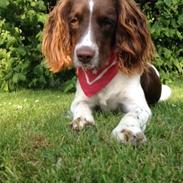
[{"label": "brown and white dog's head including both long wavy ears", "polygon": [[99,68],[112,52],[127,73],[141,72],[154,47],[133,0],[61,0],[49,14],[43,54],[53,72],[72,64]]}]

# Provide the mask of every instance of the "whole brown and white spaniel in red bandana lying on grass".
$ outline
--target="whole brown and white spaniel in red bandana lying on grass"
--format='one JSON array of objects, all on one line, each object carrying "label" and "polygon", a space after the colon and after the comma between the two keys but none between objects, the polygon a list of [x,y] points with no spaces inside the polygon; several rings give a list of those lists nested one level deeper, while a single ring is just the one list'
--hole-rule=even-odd
[{"label": "whole brown and white spaniel in red bandana lying on grass", "polygon": [[93,109],[125,115],[111,135],[124,144],[143,144],[150,105],[171,89],[151,64],[154,45],[147,20],[133,0],[61,0],[43,31],[42,52],[51,71],[76,68],[71,127],[95,125]]}]

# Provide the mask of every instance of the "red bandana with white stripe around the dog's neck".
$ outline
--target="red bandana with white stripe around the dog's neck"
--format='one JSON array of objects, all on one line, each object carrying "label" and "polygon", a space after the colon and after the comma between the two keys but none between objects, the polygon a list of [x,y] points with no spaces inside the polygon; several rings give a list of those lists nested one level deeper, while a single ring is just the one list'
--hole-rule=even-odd
[{"label": "red bandana with white stripe around the dog's neck", "polygon": [[118,73],[118,66],[114,54],[111,55],[109,62],[99,70],[78,68],[77,74],[81,88],[87,97],[92,97],[114,78]]}]

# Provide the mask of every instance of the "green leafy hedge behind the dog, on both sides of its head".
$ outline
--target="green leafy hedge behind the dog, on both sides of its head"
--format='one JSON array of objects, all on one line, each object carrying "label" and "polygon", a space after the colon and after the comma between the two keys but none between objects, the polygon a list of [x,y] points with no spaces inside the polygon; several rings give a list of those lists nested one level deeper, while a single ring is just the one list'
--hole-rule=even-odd
[{"label": "green leafy hedge behind the dog, on both sides of its head", "polygon": [[[137,0],[148,17],[157,49],[156,67],[183,74],[182,0]],[[20,88],[74,88],[74,71],[52,74],[41,55],[43,25],[56,0],[0,1],[0,90]],[[66,82],[67,81],[67,82]]]}]

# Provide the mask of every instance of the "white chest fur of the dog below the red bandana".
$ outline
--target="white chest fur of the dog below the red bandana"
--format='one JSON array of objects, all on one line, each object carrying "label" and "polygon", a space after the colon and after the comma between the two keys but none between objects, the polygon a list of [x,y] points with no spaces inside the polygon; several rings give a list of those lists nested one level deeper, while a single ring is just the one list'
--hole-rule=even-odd
[{"label": "white chest fur of the dog below the red bandana", "polygon": [[144,98],[144,93],[139,81],[140,75],[129,77],[119,72],[104,89],[90,98],[85,96],[77,82],[75,102],[85,101],[90,107],[100,106],[104,111],[115,110],[125,103],[130,103],[129,100],[142,102],[139,99]]}]

